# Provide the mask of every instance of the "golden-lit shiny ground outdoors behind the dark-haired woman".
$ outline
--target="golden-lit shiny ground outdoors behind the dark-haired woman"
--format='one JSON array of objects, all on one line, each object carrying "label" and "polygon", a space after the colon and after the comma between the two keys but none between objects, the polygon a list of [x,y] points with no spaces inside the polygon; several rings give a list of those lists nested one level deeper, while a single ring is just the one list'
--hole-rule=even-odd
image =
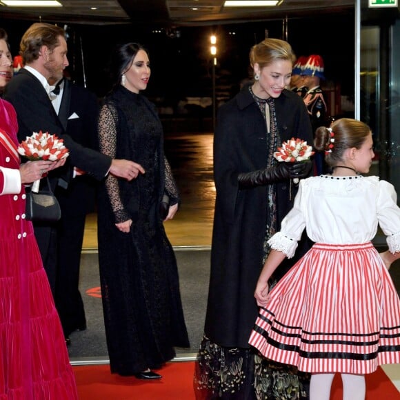
[{"label": "golden-lit shiny ground outdoors behind the dark-haired woman", "polygon": [[[172,246],[210,246],[215,186],[211,133],[168,134],[166,157],[181,193],[181,207],[165,223]],[[97,249],[97,214],[86,219],[83,250]]]}]

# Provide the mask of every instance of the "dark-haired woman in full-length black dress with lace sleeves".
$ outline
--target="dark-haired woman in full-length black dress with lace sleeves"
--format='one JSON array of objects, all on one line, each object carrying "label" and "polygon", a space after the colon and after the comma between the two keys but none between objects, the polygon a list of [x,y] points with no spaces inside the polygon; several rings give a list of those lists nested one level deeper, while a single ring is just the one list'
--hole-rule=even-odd
[{"label": "dark-haired woman in full-length black dress with lace sleeves", "polygon": [[[148,54],[137,43],[112,60],[116,84],[99,117],[101,152],[143,167],[137,179],[108,175],[99,190],[101,296],[112,373],[158,379],[174,346],[189,347],[174,251],[163,219],[177,212],[179,194],[163,152],[163,129],[146,97]],[[161,200],[170,205],[162,215]]]}]

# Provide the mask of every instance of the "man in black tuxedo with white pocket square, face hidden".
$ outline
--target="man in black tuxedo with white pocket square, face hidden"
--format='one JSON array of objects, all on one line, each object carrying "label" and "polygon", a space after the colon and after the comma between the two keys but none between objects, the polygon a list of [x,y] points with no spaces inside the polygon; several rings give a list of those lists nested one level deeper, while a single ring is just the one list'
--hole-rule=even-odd
[{"label": "man in black tuxedo with white pocket square, face hidden", "polygon": [[[70,79],[62,78],[54,89],[50,80],[54,110],[67,134],[87,148],[97,149],[97,97]],[[78,174],[66,190],[58,190],[61,220],[57,224],[57,277],[55,301],[67,343],[75,330],[86,329],[86,316],[79,292],[79,270],[86,214],[94,211],[97,181]]]}]

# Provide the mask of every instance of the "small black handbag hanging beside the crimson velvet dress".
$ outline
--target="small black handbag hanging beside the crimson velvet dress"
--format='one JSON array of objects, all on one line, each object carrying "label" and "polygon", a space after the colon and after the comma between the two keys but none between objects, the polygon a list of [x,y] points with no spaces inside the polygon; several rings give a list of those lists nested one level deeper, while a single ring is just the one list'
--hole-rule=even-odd
[{"label": "small black handbag hanging beside the crimson velvet dress", "polygon": [[47,189],[39,192],[26,192],[26,219],[28,221],[48,221],[55,222],[61,218],[61,208],[59,201],[54,196],[48,177]]}]

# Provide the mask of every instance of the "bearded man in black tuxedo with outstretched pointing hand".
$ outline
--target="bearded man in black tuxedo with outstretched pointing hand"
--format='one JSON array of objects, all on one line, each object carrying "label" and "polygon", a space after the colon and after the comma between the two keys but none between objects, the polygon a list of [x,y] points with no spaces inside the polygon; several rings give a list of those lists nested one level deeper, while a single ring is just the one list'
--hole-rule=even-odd
[{"label": "bearded man in black tuxedo with outstretched pointing hand", "polygon": [[[32,132],[49,132],[63,139],[70,151],[63,170],[49,172],[50,184],[57,195],[67,188],[77,170],[101,181],[108,173],[128,180],[135,179],[143,168],[133,161],[114,159],[114,155],[101,154],[74,141],[61,123],[50,100],[48,79],[59,81],[68,66],[65,32],[49,23],[34,23],[23,34],[20,54],[24,67],[6,86],[4,99],[17,110],[19,140]],[[69,167],[69,168],[68,168]],[[43,265],[48,274],[53,294],[57,274],[57,224],[34,223]]]}]

